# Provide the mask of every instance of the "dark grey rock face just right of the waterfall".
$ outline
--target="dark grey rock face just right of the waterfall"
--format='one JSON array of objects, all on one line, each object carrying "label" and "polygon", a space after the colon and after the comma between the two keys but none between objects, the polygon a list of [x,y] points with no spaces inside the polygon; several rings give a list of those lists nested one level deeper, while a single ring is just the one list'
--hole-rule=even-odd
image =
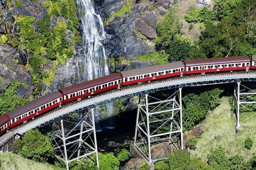
[{"label": "dark grey rock face just right of the waterfall", "polygon": [[[95,1],[101,17],[108,21],[111,12],[119,11],[126,0]],[[108,55],[133,59],[135,56],[155,51],[157,20],[164,15],[172,0],[134,1],[131,12],[115,16],[105,25],[109,39],[104,42]],[[162,12],[160,12],[162,11]],[[111,44],[111,45],[110,45]]]}]

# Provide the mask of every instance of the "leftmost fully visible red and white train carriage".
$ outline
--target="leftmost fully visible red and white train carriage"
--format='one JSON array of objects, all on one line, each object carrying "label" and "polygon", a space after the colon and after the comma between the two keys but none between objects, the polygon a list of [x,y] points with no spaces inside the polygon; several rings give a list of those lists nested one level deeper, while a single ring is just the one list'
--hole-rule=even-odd
[{"label": "leftmost fully visible red and white train carriage", "polygon": [[45,113],[60,106],[61,104],[62,95],[58,91],[55,91],[8,113],[5,113],[3,116],[9,119],[10,126],[13,127],[18,124],[25,123],[28,119]]}]

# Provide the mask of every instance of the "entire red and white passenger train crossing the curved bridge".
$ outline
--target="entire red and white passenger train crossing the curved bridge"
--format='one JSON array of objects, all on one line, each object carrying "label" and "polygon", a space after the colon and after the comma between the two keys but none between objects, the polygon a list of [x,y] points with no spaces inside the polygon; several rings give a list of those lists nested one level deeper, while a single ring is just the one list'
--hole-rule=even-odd
[{"label": "entire red and white passenger train crossing the curved bridge", "polygon": [[1,115],[0,135],[68,102],[81,100],[109,90],[120,89],[124,86],[192,74],[204,75],[241,70],[249,72],[253,69],[256,69],[256,55],[252,56],[252,60],[249,56],[185,60],[113,73],[64,87]]}]

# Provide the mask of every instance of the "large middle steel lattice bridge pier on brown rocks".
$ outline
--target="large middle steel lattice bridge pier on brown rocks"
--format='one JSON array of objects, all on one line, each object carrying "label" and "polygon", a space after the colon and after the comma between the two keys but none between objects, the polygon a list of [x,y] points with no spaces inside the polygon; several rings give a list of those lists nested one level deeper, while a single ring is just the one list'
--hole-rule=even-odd
[{"label": "large middle steel lattice bridge pier on brown rocks", "polygon": [[173,149],[183,149],[181,90],[164,100],[140,95],[132,147],[148,164],[166,159]]}]

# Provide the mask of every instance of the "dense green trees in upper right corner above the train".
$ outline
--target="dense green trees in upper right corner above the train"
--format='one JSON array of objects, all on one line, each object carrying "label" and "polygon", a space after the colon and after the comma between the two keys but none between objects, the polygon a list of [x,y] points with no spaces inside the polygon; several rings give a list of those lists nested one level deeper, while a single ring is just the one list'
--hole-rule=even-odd
[{"label": "dense green trees in upper right corner above the train", "polygon": [[191,57],[251,56],[256,52],[256,28],[252,26],[256,22],[255,12],[256,1],[241,0],[234,12],[220,22],[205,24],[199,45],[190,52]]}]

